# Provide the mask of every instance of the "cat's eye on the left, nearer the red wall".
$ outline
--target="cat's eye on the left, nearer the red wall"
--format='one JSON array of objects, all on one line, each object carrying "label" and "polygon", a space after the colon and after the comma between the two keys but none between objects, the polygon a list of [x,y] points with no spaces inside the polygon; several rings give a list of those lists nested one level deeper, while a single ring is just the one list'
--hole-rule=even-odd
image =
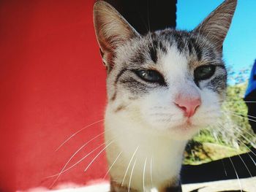
[{"label": "cat's eye on the left, nearer the red wall", "polygon": [[157,82],[160,85],[165,85],[164,77],[155,70],[136,70],[135,74],[146,82]]}]

